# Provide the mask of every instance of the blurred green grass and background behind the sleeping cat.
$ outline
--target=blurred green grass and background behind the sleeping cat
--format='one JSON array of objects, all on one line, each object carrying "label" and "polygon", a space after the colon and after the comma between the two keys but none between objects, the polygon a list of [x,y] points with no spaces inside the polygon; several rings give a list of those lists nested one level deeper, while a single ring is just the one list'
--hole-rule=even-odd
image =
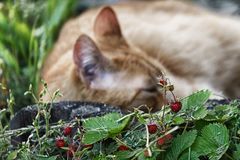
[{"label": "blurred green grass and background behind the sleeping cat", "polygon": [[[29,84],[37,93],[40,70],[62,24],[84,9],[123,0],[5,0],[0,2],[0,108],[8,89],[15,110],[34,103],[24,96]],[[237,0],[193,0],[220,12],[239,14]]]}]

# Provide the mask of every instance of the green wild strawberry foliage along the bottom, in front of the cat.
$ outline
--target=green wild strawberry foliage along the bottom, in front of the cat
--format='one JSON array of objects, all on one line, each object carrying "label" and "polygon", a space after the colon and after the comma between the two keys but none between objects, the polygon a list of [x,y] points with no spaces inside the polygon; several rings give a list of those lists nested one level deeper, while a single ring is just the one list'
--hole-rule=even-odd
[{"label": "green wild strawberry foliage along the bottom, in front of the cat", "polygon": [[[39,117],[36,117],[28,141],[14,149],[7,141],[1,143],[8,146],[1,156],[8,160],[237,160],[240,157],[240,102],[206,103],[209,96],[209,91],[199,91],[181,99],[182,109],[177,113],[165,106],[156,113],[135,109],[126,115],[110,113],[102,117],[76,118],[68,123],[60,121],[48,129],[45,125],[47,131],[43,135],[41,126],[37,125]],[[46,111],[40,109],[39,113],[43,110]],[[44,113],[48,121],[48,113]],[[150,132],[147,126],[153,123],[157,128]],[[65,130],[66,126],[72,127],[71,134]],[[0,140],[8,139],[9,132],[3,133]],[[172,137],[159,141],[167,135]]]}]

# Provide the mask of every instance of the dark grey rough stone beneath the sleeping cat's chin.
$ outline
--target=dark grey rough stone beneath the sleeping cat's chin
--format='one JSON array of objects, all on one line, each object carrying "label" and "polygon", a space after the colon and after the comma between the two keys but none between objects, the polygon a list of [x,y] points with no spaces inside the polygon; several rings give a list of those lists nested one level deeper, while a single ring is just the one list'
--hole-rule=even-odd
[{"label": "dark grey rough stone beneath the sleeping cat's chin", "polygon": [[[70,121],[75,117],[79,117],[81,119],[88,117],[101,116],[106,113],[118,112],[123,113],[119,108],[113,107],[106,104],[101,103],[93,103],[93,102],[58,102],[52,104],[51,109],[51,118],[50,123],[56,123],[59,120]],[[11,130],[19,129],[22,127],[27,127],[32,125],[32,122],[37,114],[37,105],[32,105],[25,107],[18,111],[16,115],[10,122]],[[41,117],[42,118],[42,117]],[[44,125],[44,120],[41,121]],[[21,136],[13,136],[11,137],[11,142],[13,146],[26,141],[29,136],[29,133],[25,133]]]}]

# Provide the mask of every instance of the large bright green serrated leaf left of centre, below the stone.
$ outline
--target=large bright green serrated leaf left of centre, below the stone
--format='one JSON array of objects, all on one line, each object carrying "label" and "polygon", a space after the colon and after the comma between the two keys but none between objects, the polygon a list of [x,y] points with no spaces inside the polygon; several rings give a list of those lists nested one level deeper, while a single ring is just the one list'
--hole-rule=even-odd
[{"label": "large bright green serrated leaf left of centre, below the stone", "polygon": [[84,120],[83,128],[85,133],[83,135],[83,143],[93,144],[120,133],[130,119],[130,117],[127,117],[123,121],[118,122],[121,117],[119,113],[110,113],[103,117],[93,117]]}]

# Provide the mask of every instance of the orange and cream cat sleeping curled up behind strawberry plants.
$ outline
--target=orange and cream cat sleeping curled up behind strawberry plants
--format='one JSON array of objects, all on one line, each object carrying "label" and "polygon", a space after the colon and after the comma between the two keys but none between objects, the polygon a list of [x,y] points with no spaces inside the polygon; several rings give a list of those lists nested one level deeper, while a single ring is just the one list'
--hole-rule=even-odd
[{"label": "orange and cream cat sleeping curled up behind strawberry plants", "polygon": [[42,72],[49,91],[63,94],[56,101],[124,110],[144,104],[160,109],[157,77],[163,75],[177,97],[200,89],[239,96],[239,19],[179,1],[90,9],[64,25]]}]

